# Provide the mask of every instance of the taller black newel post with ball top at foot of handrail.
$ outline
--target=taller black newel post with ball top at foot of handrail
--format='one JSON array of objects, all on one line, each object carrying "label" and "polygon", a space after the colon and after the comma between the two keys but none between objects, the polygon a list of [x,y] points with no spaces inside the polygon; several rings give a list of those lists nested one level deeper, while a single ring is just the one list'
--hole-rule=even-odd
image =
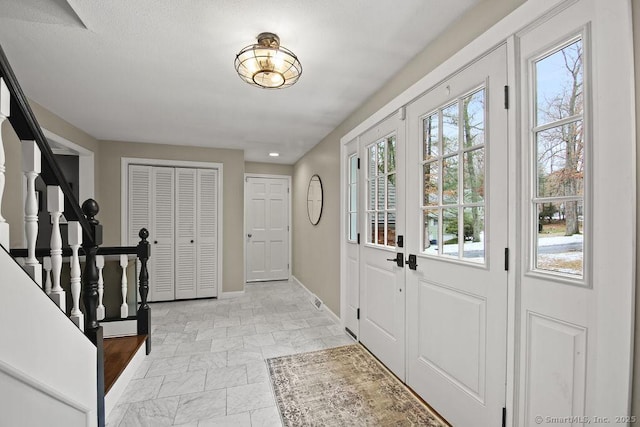
[{"label": "taller black newel post with ball top at foot of handrail", "polygon": [[98,426],[105,423],[104,417],[104,342],[102,326],[98,323],[98,266],[96,265],[96,255],[98,246],[102,244],[102,225],[95,216],[100,211],[98,203],[93,199],[87,199],[82,204],[89,224],[90,233],[85,233],[82,238],[82,248],[85,254],[85,266],[82,274],[82,301],[84,302],[85,318],[84,333],[96,346],[97,368],[98,368]]}]

